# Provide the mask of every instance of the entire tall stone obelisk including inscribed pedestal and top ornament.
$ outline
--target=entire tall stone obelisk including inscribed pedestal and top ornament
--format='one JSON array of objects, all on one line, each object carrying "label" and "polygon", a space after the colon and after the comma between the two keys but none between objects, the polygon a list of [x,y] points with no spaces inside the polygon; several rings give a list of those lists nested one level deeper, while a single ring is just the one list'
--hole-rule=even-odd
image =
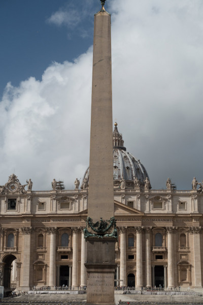
[{"label": "entire tall stone obelisk including inscribed pedestal and top ornament", "polygon": [[[101,0],[100,0],[101,1]],[[106,1],[106,0],[105,0]],[[94,15],[87,241],[87,304],[114,304],[115,241],[111,16]]]}]

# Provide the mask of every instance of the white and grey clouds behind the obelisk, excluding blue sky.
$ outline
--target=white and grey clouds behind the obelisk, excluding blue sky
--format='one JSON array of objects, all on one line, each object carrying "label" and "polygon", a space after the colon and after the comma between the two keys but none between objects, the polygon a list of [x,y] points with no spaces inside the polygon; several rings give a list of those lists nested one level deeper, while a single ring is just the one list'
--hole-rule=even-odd
[{"label": "white and grey clouds behind the obelisk, excluding blue sky", "polygon": [[[113,117],[124,144],[145,165],[153,188],[171,177],[189,189],[193,176],[203,178],[201,1],[112,0],[109,11]],[[55,13],[52,22],[71,24],[65,14]],[[90,49],[74,63],[52,64],[42,81],[7,85],[0,103],[0,184],[14,169],[21,183],[31,178],[35,190],[49,189],[53,178],[73,188],[83,175],[91,65]]]}]

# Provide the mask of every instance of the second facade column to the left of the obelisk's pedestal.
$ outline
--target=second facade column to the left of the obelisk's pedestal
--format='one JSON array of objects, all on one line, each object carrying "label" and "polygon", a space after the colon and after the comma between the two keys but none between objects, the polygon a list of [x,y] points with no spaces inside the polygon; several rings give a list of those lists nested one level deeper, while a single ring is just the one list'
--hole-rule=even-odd
[{"label": "second facade column to the left of the obelisk's pedestal", "polygon": [[73,230],[73,273],[72,273],[72,286],[78,287],[78,228]]}]

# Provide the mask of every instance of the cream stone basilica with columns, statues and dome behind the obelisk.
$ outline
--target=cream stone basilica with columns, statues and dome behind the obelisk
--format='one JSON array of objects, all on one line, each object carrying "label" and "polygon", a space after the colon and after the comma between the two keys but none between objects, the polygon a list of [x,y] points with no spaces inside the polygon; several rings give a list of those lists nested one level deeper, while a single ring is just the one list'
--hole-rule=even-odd
[{"label": "cream stone basilica with columns, statues and dome behind the obelisk", "polygon": [[[165,190],[151,189],[145,167],[123,144],[115,124],[115,286],[201,288],[201,184],[194,178],[191,190],[178,191],[168,178]],[[0,186],[1,285],[86,286],[88,178],[87,169],[74,190],[54,179],[52,190],[35,191],[31,179],[23,185],[12,174]]]}]

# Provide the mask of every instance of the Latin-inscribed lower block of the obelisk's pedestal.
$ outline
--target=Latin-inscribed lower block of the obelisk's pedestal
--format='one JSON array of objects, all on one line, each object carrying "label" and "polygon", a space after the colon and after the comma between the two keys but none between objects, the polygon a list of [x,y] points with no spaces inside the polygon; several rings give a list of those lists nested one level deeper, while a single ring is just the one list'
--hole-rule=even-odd
[{"label": "Latin-inscribed lower block of the obelisk's pedestal", "polygon": [[[114,301],[114,274],[112,273],[89,273],[87,274],[88,300],[97,302]],[[113,292],[113,293],[112,293]],[[107,301],[108,297],[108,301]]]}]

